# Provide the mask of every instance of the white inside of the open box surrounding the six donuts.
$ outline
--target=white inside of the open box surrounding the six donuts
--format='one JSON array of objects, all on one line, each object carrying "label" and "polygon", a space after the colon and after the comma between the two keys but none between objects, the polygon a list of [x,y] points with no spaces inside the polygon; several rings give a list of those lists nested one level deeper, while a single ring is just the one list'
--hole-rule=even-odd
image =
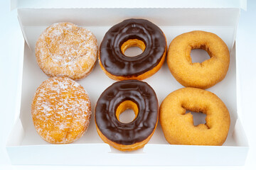
[{"label": "white inside of the open box surrounding the six donuts", "polygon": [[[166,35],[167,45],[171,40],[181,33],[191,30],[205,30],[217,34],[228,45],[230,50],[230,67],[228,74],[223,81],[207,89],[216,94],[227,106],[230,112],[231,125],[228,138],[223,147],[247,147],[247,140],[238,121],[237,97],[236,97],[236,64],[235,64],[235,35],[238,26],[240,9],[238,8],[21,8],[18,9],[18,19],[21,24],[23,36],[26,40],[23,56],[23,78],[21,89],[21,111],[20,120],[10,136],[9,147],[53,147],[48,142],[39,137],[33,126],[31,118],[31,102],[33,94],[38,86],[48,77],[44,74],[36,63],[35,44],[39,35],[53,23],[72,22],[78,26],[92,30],[97,38],[98,45],[102,41],[105,33],[111,26],[127,18],[144,18],[159,26]],[[136,50],[132,51],[136,52]],[[203,50],[193,50],[191,56],[194,62],[206,60],[208,55]],[[209,57],[208,57],[209,58]],[[183,86],[174,79],[168,69],[166,62],[163,67],[152,77],[144,79],[156,92],[159,105],[164,98],[176,89]],[[100,152],[122,154],[117,149],[106,145],[97,135],[94,120],[94,108],[100,94],[115,81],[104,74],[98,62],[88,77],[78,81],[90,96],[92,102],[92,119],[90,126],[79,140],[70,145],[92,145],[95,150],[99,146],[105,148]],[[124,116],[125,117],[125,116]],[[196,119],[201,123],[205,117],[203,114],[195,114]],[[129,118],[129,116],[127,116]],[[124,118],[125,120],[126,118]],[[242,137],[242,139],[241,139]],[[161,125],[158,123],[156,132],[145,145],[129,154],[143,154],[154,152],[156,148],[164,151],[166,148],[174,148],[175,145],[169,145],[164,138]],[[198,148],[203,146],[183,146],[186,148]],[[101,148],[100,147],[100,148]],[[221,148],[221,147],[209,147]],[[126,152],[127,153],[127,152]]]}]

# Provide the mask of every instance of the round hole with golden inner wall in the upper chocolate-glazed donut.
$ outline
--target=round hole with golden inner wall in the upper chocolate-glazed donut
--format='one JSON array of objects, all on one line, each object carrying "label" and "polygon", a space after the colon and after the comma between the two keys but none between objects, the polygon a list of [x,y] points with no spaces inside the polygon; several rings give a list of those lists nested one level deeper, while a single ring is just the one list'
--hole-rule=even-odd
[{"label": "round hole with golden inner wall in the upper chocolate-glazed donut", "polygon": [[121,46],[121,51],[126,57],[136,57],[141,55],[146,48],[142,40],[132,39],[127,40]]}]

